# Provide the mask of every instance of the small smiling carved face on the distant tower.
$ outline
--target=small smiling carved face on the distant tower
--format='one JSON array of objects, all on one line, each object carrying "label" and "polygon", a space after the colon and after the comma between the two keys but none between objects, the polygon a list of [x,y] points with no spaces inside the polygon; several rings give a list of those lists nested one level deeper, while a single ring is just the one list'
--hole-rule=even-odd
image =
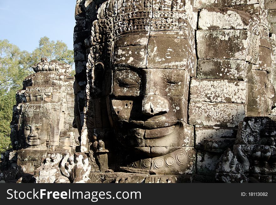
[{"label": "small smiling carved face on the distant tower", "polygon": [[25,118],[24,138],[29,146],[44,145],[50,136],[50,124],[45,117]]}]

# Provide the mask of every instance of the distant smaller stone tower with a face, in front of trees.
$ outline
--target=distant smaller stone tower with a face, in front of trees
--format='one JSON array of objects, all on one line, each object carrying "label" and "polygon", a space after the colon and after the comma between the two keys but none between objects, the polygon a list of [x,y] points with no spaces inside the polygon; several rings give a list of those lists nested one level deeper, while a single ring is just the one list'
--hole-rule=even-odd
[{"label": "distant smaller stone tower with a face, in front of trees", "polygon": [[10,175],[6,179],[21,174],[31,177],[49,151],[73,154],[79,145],[79,135],[72,127],[74,77],[69,75],[72,67],[41,58],[33,69],[35,73],[24,79],[23,89],[16,94],[11,122],[13,151],[5,153],[3,161],[8,163],[2,165],[16,171],[6,172]]}]

